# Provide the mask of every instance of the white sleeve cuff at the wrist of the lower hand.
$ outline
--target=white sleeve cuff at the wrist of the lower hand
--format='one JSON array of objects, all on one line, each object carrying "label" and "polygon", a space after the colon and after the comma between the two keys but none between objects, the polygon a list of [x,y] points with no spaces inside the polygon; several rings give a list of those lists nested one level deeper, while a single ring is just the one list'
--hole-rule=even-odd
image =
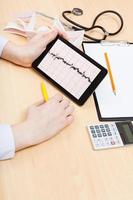
[{"label": "white sleeve cuff at the wrist of the lower hand", "polygon": [[15,154],[14,137],[11,126],[0,125],[0,160],[13,158]]}]

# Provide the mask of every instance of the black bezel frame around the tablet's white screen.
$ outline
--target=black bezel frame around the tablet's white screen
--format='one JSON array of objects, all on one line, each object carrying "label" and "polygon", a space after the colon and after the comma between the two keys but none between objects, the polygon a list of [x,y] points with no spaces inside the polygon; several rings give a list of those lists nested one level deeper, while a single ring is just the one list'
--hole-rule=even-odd
[{"label": "black bezel frame around the tablet's white screen", "polygon": [[[52,46],[54,45],[54,43],[57,40],[61,40],[62,42],[64,42],[67,46],[69,46],[70,48],[72,48],[73,50],[75,50],[78,54],[80,54],[81,56],[83,56],[84,58],[86,58],[89,62],[91,62],[97,68],[99,68],[101,70],[100,73],[96,76],[96,78],[93,80],[93,82],[89,85],[89,87],[85,90],[85,92],[82,94],[82,96],[79,99],[75,98],[71,93],[69,93],[67,90],[65,90],[65,88],[63,88],[55,80],[53,80],[51,77],[49,77],[47,74],[45,74],[45,72],[43,72],[42,70],[40,70],[38,68],[38,65],[40,64],[40,62],[47,55],[47,53],[49,52],[49,50],[52,48]],[[32,63],[32,67],[37,72],[39,72],[43,77],[46,77],[50,82],[52,82],[57,88],[59,88],[62,92],[64,92],[70,99],[72,99],[78,105],[83,105],[85,103],[85,101],[88,99],[88,97],[94,92],[94,90],[96,89],[96,87],[99,85],[99,83],[103,80],[103,78],[107,74],[107,70],[104,67],[102,67],[95,60],[93,60],[92,58],[90,58],[88,55],[86,55],[85,53],[83,53],[81,50],[79,50],[77,47],[75,47],[70,42],[68,42],[64,38],[60,37],[59,35],[55,38],[55,40],[53,40],[51,43],[49,43],[47,45],[47,48],[43,51],[43,53]]]}]

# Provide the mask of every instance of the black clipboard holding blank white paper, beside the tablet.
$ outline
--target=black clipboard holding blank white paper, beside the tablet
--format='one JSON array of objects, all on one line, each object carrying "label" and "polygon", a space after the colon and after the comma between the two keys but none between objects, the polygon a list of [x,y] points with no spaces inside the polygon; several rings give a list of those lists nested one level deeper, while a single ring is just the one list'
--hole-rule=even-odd
[{"label": "black clipboard holding blank white paper, beside the tablet", "polygon": [[114,95],[109,75],[95,90],[94,101],[100,121],[133,121],[133,45],[125,41],[83,42],[83,50],[107,69],[107,52],[116,85]]}]

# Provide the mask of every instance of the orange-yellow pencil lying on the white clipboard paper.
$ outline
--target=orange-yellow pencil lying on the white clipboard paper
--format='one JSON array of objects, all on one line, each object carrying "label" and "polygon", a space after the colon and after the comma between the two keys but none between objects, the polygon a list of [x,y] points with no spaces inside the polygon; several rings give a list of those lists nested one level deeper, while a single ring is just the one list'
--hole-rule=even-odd
[{"label": "orange-yellow pencil lying on the white clipboard paper", "polygon": [[113,75],[112,75],[112,71],[111,71],[111,66],[110,66],[108,54],[104,53],[104,56],[105,56],[105,60],[106,60],[106,64],[107,64],[107,68],[108,68],[108,72],[109,72],[109,77],[110,77],[110,81],[111,81],[111,87],[112,87],[113,93],[116,95],[115,82],[114,82],[114,79],[113,79]]}]

